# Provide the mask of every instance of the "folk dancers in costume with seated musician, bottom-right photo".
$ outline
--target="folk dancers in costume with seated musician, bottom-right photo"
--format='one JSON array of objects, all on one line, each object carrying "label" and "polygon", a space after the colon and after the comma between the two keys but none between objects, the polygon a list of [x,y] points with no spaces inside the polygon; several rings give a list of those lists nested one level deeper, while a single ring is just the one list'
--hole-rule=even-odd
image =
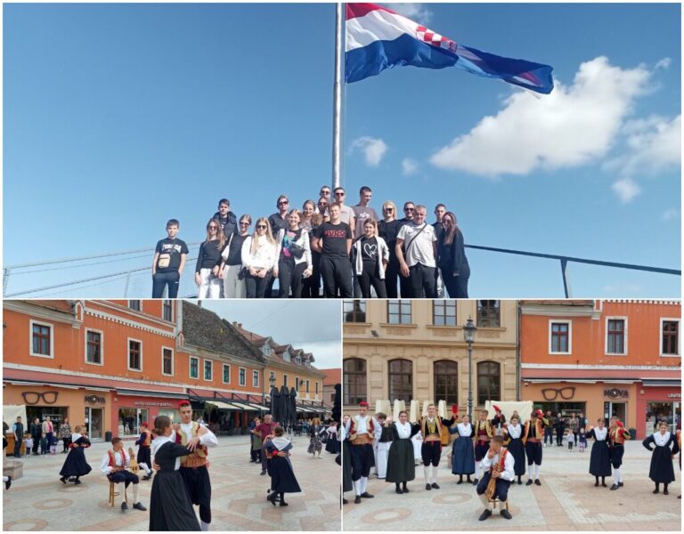
[{"label": "folk dancers in costume with seated musician, bottom-right photo", "polygon": [[[485,505],[480,521],[485,521],[492,514],[493,499],[506,503],[510,485],[523,483],[525,465],[526,484],[542,485],[539,476],[542,439],[545,428],[550,426],[539,409],[524,422],[517,412],[506,422],[501,410],[495,405],[494,409],[493,418],[489,418],[487,410],[480,410],[476,422],[471,423],[468,415],[459,421],[455,406],[452,417],[447,419],[437,416],[435,406],[429,405],[427,415],[421,417],[419,423],[411,424],[405,411],[399,413],[398,421],[392,421],[383,413],[374,417],[369,415],[368,403],[362,402],[358,415],[346,416],[341,429],[345,447],[343,491],[354,490],[356,504],[362,503],[363,498],[373,498],[367,491],[367,484],[371,467],[375,465],[379,479],[394,482],[397,494],[410,493],[408,482],[416,478],[415,442],[419,443],[425,490],[439,490],[437,473],[442,450],[452,441],[452,473],[459,476],[456,483],[464,483],[465,476],[466,482],[476,486],[476,494]],[[414,441],[416,435],[420,437],[419,441]],[[600,418],[597,427],[590,427],[586,437],[595,441],[589,468],[596,477],[594,485],[599,486],[600,478],[600,483],[606,487],[605,477],[611,475],[612,468],[615,482],[611,490],[623,487],[624,442],[631,439],[631,435],[622,422],[618,417],[612,417],[610,425],[606,426],[605,420]],[[654,493],[659,492],[659,484],[663,483],[667,495],[667,484],[674,481],[672,457],[680,451],[680,432],[672,436],[663,424],[643,444],[649,450],[655,445],[649,473],[655,481]],[[511,518],[508,506],[501,509],[501,515]]]}]

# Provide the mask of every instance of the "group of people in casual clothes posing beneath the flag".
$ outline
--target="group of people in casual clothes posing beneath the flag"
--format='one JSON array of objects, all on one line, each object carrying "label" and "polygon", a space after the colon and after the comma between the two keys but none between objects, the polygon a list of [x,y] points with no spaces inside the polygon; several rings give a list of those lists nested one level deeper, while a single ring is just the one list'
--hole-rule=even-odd
[{"label": "group of people in casual clothes posing beneath the flag", "polygon": [[[332,195],[332,196],[331,196]],[[334,198],[333,198],[334,197]],[[456,215],[435,207],[436,223],[426,221],[426,206],[403,204],[398,218],[392,200],[382,216],[370,206],[371,188],[359,190],[359,203],[346,206],[342,187],[323,186],[318,202],[292,208],[287,195],[277,212],[238,219],[222,198],[207,223],[199,247],[195,283],[199,298],[468,298],[470,268]],[[178,238],[180,224],[167,222],[167,238],[157,243],[152,261],[152,298],[178,294],[189,249]]]}]

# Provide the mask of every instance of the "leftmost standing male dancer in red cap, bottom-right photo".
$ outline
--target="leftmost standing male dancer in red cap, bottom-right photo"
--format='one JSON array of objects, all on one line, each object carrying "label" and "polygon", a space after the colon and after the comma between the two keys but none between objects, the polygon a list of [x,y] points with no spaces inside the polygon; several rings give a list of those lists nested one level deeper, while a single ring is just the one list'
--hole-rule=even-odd
[{"label": "leftmost standing male dancer in red cap, bottom-right photo", "polygon": [[373,438],[375,423],[368,415],[368,402],[359,403],[359,413],[351,417],[346,424],[346,434],[351,443],[352,481],[354,482],[354,504],[361,503],[361,498],[373,498],[368,491],[368,475],[374,465]]}]

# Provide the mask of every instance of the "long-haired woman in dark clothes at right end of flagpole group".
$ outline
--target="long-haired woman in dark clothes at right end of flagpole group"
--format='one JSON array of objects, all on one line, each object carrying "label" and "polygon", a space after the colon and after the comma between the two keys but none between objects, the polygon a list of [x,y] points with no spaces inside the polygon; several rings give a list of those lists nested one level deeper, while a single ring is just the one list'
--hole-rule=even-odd
[{"label": "long-haired woman in dark clothes at right end of flagpole group", "polygon": [[468,298],[470,266],[456,215],[446,212],[442,228],[437,239],[437,267],[442,272],[444,286],[450,298]]}]

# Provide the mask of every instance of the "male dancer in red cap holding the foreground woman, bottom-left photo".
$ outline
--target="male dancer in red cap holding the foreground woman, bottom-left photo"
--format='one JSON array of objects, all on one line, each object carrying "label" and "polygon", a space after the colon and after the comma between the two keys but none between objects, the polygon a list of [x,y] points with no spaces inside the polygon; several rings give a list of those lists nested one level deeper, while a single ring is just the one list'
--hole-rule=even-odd
[{"label": "male dancer in red cap holding the foreground woman, bottom-left photo", "polygon": [[209,530],[211,523],[211,481],[209,481],[208,448],[216,447],[216,436],[206,426],[192,420],[192,407],[189,401],[178,405],[181,423],[176,425],[175,442],[186,446],[191,455],[181,457],[181,476],[185,482],[193,505],[199,505],[199,526]]}]

